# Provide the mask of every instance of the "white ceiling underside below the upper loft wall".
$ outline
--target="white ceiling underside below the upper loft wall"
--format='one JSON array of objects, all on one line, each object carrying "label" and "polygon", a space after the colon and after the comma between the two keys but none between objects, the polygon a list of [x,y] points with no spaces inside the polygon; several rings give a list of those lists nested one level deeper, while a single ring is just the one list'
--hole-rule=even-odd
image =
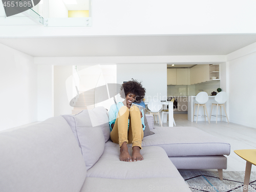
[{"label": "white ceiling underside below the upper loft wall", "polygon": [[34,57],[227,55],[256,42],[256,34],[0,38]]}]

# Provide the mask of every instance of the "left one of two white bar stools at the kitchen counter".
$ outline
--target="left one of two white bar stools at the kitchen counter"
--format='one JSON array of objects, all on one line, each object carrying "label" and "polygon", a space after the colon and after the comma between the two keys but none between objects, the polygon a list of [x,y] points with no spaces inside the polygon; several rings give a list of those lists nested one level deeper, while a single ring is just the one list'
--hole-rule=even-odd
[{"label": "left one of two white bar stools at the kitchen counter", "polygon": [[[203,109],[204,109],[204,121],[206,121],[206,118],[208,119],[208,122],[210,123],[210,120],[209,120],[209,117],[208,117],[208,112],[207,112],[207,108],[206,108],[206,105],[205,103],[208,101],[209,97],[208,97],[208,94],[206,92],[200,92],[197,94],[196,96],[196,101],[197,103],[195,103],[195,106],[194,106],[194,116],[193,116],[193,121],[194,121],[194,117],[197,116],[197,119],[198,119],[198,112],[199,112],[199,106],[203,106]],[[195,115],[195,111],[196,111],[196,106],[197,106],[197,115]],[[205,115],[205,112],[206,112],[206,115]],[[197,123],[197,122],[196,122]]]}]

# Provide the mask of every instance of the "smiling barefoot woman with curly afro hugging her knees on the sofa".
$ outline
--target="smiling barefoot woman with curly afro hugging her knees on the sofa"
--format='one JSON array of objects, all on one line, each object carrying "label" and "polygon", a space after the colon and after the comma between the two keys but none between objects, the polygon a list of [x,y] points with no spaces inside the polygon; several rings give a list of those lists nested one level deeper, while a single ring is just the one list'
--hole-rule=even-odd
[{"label": "smiling barefoot woman with curly afro hugging her knees on the sofa", "polygon": [[[143,139],[144,112],[140,112],[133,102],[140,102],[145,96],[141,82],[134,79],[122,84],[120,95],[123,102],[113,104],[109,110],[110,138],[120,146],[120,161],[141,161],[141,142]],[[132,143],[132,157],[128,152],[127,143]]]}]

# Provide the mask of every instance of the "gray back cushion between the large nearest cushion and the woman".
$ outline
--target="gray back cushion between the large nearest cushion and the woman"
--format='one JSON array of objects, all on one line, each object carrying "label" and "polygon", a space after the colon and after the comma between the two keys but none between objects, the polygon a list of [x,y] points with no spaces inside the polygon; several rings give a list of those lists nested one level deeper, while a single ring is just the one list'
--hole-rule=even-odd
[{"label": "gray back cushion between the large nearest cushion and the woman", "polygon": [[69,123],[81,147],[87,170],[98,161],[104,151],[105,139],[97,116],[92,110],[83,110],[77,115],[63,115]]}]

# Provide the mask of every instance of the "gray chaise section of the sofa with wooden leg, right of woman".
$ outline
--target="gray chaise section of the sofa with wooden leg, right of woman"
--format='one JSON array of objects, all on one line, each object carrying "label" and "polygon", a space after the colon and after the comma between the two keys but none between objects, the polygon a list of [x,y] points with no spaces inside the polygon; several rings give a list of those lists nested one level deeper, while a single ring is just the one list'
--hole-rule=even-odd
[{"label": "gray chaise section of the sofa with wooden leg, right of woman", "polygon": [[146,115],[154,135],[142,140],[142,146],[160,146],[177,169],[218,169],[222,180],[227,168],[230,144],[196,127],[155,127],[154,117]]}]

